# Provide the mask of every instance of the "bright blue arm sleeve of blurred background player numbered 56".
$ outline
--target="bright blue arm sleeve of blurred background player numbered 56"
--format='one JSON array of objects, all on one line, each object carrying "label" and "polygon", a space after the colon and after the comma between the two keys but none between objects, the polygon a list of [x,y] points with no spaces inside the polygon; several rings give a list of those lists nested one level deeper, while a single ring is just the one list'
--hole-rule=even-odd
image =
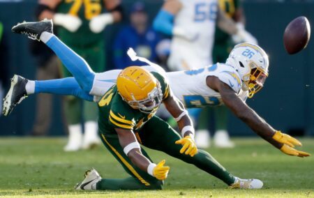
[{"label": "bright blue arm sleeve of blurred background player numbered 56", "polygon": [[174,15],[172,15],[172,13],[169,13],[166,10],[160,10],[154,20],[153,28],[156,31],[172,36],[173,19]]}]

